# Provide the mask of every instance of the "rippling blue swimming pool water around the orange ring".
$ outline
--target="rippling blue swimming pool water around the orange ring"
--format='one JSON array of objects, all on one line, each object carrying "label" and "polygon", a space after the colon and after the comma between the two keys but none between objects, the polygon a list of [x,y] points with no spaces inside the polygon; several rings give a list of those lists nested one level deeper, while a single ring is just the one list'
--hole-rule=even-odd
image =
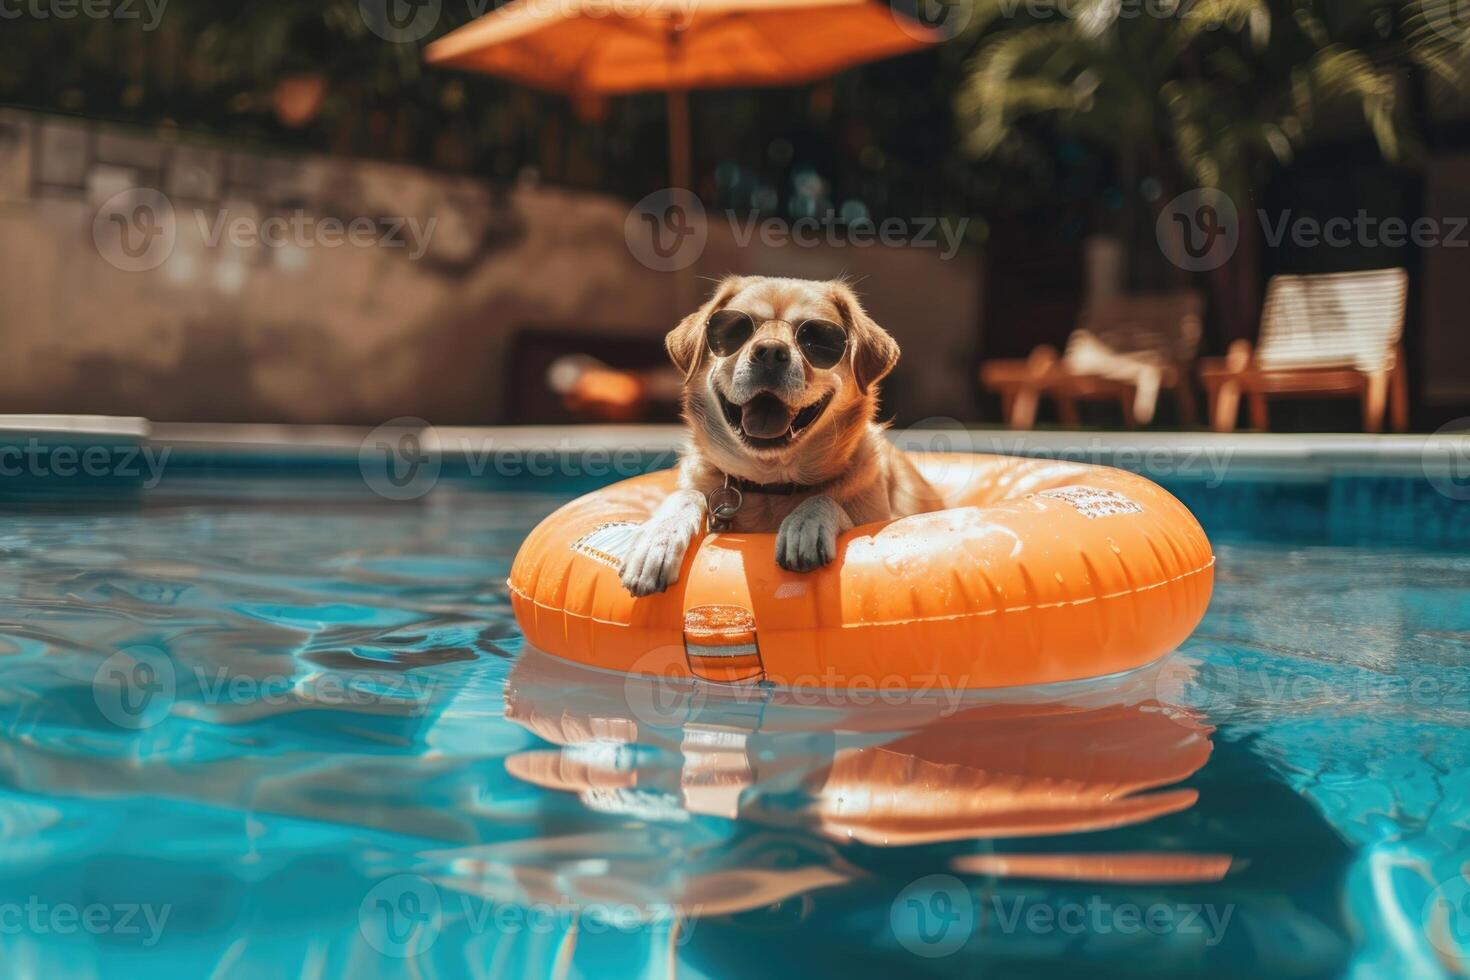
[{"label": "rippling blue swimming pool water around the orange ring", "polygon": [[1155,473],[1219,555],[1173,658],[794,698],[525,649],[510,560],[595,467],[175,448],[0,514],[7,976],[1470,965],[1470,517],[1423,476]]}]

